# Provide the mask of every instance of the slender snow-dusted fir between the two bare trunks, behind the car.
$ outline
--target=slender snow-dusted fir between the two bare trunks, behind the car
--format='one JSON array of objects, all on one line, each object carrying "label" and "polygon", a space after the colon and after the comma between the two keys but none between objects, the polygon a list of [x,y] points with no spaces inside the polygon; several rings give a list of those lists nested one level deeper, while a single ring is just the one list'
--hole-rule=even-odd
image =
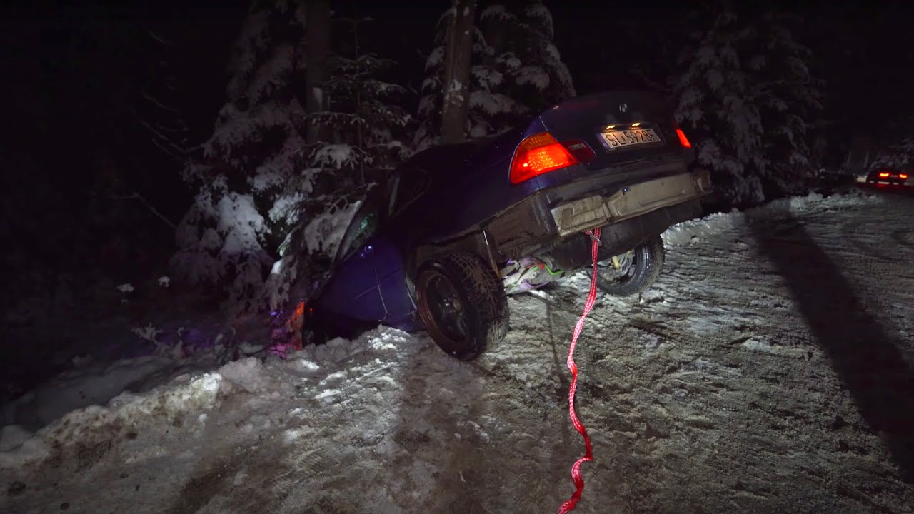
[{"label": "slender snow-dusted fir between the two bare trunks, behind the car", "polygon": [[[357,24],[370,19],[341,19]],[[356,41],[357,42],[357,41]],[[331,134],[314,145],[300,145],[301,175],[309,177],[310,196],[292,202],[285,220],[290,225],[279,244],[279,259],[271,267],[266,291],[271,309],[301,294],[299,270],[311,265],[314,254],[333,257],[349,220],[367,190],[383,180],[406,156],[402,143],[412,117],[397,104],[406,89],[383,80],[396,63],[374,53],[335,53],[327,63],[324,82],[328,108],[303,115],[303,123],[325,127]],[[314,273],[319,273],[317,270]]]}]

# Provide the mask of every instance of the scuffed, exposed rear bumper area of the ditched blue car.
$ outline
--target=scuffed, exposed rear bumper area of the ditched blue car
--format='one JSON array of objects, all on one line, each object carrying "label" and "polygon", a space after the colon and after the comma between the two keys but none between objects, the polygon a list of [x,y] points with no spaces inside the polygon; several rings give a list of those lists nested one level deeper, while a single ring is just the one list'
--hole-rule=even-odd
[{"label": "scuffed, exposed rear bumper area of the ditched blue car", "polygon": [[[688,209],[676,212],[697,215],[693,204],[710,192],[707,171],[689,172],[682,163],[667,163],[538,191],[483,228],[498,255],[516,259],[585,230],[639,219],[674,206],[688,204]],[[652,223],[657,234],[679,221],[669,216],[658,219],[669,223],[663,227]],[[647,234],[652,235],[656,234]]]}]

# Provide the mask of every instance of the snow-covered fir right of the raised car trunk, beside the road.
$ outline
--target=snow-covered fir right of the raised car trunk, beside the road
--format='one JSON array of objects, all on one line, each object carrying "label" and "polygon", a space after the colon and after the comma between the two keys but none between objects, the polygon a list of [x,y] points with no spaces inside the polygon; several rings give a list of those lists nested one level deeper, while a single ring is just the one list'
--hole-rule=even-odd
[{"label": "snow-covered fir right of the raised car trunk, beside the road", "polygon": [[809,173],[810,117],[819,83],[810,51],[787,20],[725,9],[684,49],[675,76],[676,120],[696,142],[722,200],[758,204],[784,194]]}]

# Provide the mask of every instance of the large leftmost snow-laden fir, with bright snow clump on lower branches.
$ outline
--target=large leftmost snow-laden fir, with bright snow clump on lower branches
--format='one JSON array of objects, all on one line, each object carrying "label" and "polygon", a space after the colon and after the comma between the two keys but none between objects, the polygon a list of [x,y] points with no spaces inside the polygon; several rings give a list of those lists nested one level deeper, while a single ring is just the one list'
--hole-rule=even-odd
[{"label": "large leftmost snow-laden fir, with bright snow clump on lower branches", "polygon": [[275,258],[301,228],[299,207],[312,190],[296,87],[305,65],[303,27],[302,7],[252,8],[231,62],[228,102],[184,170],[197,198],[176,231],[172,267],[191,284],[218,286],[231,312],[262,306],[266,272],[282,271]]}]

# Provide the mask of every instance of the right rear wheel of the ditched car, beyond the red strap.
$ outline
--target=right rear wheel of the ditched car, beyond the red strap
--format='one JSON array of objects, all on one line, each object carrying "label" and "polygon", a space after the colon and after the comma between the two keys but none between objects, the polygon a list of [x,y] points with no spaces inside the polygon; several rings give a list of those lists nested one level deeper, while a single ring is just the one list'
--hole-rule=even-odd
[{"label": "right rear wheel of the ditched car, beyond the red strap", "polygon": [[613,296],[642,293],[657,282],[664,268],[664,257],[664,240],[655,236],[631,252],[599,262],[597,285]]}]

